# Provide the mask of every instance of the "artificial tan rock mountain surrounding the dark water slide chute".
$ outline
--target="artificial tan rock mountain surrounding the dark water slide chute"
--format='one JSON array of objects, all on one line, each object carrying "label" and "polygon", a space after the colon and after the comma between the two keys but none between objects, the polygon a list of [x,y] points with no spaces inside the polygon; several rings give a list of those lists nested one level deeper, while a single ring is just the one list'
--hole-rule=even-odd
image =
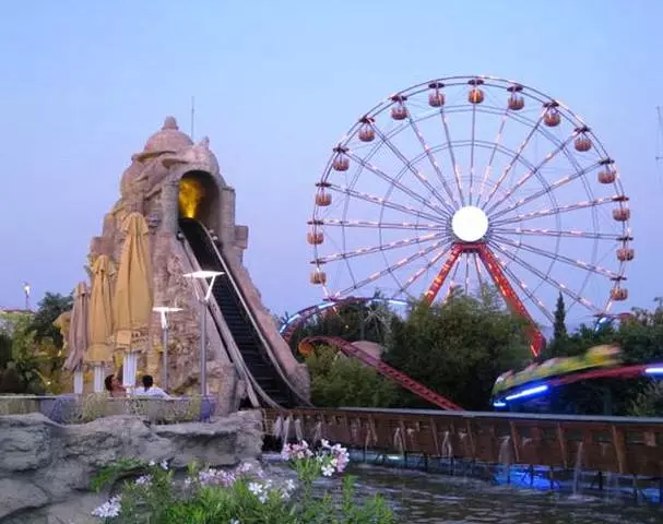
[{"label": "artificial tan rock mountain surrounding the dark water slide chute", "polygon": [[[103,231],[90,247],[88,271],[102,254],[117,264],[123,243],[122,224],[132,212],[141,213],[149,225],[154,303],[177,306],[181,312],[170,317],[169,385],[176,393],[199,391],[200,317],[191,279],[182,275],[194,270],[182,242],[177,238],[178,221],[196,217],[220,240],[220,249],[229,265],[245,300],[261,326],[281,369],[304,395],[310,390],[305,365],[298,364],[279,334],[272,314],[242,265],[248,246],[248,227],[235,223],[235,190],[221,175],[218,162],[209,140],[194,144],[180,131],[173,117],[166,118],[120,181],[120,199],[104,217]],[[208,312],[208,315],[211,315]],[[208,319],[208,386],[233,410],[245,394],[236,364],[229,357],[211,317]],[[153,315],[145,333],[146,344],[139,370],[154,377],[161,373],[161,323]]]}]

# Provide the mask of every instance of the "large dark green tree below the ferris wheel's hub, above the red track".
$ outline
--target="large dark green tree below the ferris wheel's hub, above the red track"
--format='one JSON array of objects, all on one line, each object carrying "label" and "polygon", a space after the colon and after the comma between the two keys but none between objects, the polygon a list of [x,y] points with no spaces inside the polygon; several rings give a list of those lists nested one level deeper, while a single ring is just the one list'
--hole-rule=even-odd
[{"label": "large dark green tree below the ferris wheel's hub, above the red track", "polygon": [[[495,379],[529,358],[522,326],[493,288],[452,294],[441,306],[421,301],[392,322],[386,360],[466,409],[489,409]],[[413,396],[401,404],[429,407]]]}]

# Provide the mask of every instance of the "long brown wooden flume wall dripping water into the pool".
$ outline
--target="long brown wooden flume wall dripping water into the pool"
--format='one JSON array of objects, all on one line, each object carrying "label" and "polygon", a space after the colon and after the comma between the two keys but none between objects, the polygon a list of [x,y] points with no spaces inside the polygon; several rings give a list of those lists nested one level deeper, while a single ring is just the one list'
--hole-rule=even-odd
[{"label": "long brown wooden flume wall dripping water into the pool", "polygon": [[265,432],[483,463],[663,477],[663,418],[406,409],[265,409]]}]

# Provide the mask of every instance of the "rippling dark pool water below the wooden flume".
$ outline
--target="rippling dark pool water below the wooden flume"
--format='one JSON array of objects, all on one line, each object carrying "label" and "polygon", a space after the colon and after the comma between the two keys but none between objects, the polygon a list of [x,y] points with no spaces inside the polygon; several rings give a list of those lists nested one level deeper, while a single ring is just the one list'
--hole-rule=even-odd
[{"label": "rippling dark pool water below the wooden flume", "polygon": [[[280,474],[285,466],[272,464]],[[360,497],[381,493],[400,522],[435,524],[656,524],[663,509],[634,507],[596,497],[490,486],[471,478],[354,464]],[[317,489],[340,490],[321,479]]]}]

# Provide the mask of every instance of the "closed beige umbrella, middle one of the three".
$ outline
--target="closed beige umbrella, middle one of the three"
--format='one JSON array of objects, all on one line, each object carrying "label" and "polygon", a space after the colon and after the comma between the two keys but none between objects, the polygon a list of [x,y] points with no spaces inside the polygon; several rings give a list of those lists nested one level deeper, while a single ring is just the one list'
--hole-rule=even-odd
[{"label": "closed beige umbrella, middle one of the three", "polygon": [[113,360],[109,343],[113,336],[110,278],[114,273],[113,262],[105,254],[99,255],[92,266],[92,294],[87,323],[90,347],[83,357],[85,362],[98,365]]}]

